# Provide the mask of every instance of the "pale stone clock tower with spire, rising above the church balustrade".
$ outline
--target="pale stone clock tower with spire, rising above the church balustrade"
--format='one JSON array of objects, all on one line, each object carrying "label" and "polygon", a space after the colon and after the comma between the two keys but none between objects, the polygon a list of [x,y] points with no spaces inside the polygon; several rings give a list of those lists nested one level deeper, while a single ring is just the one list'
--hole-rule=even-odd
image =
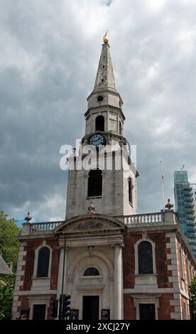
[{"label": "pale stone clock tower with spire, rising above the church balustrade", "polygon": [[[107,35],[103,41],[94,89],[87,97],[85,136],[82,138],[79,156],[70,158],[74,168],[69,168],[68,172],[66,218],[86,214],[87,208],[92,204],[98,214],[136,214],[138,172],[130,158],[129,142],[124,137],[125,117],[121,109],[123,101],[116,90]],[[80,158],[84,161],[87,158],[87,145],[94,147],[94,158],[97,161],[100,157],[99,146],[114,151],[107,154],[111,164],[108,166],[107,163],[102,163],[99,166],[96,163],[87,169],[82,163],[82,168],[78,168],[76,160]],[[129,156],[124,163],[122,147],[126,148]],[[118,156],[120,166],[116,163]]]}]

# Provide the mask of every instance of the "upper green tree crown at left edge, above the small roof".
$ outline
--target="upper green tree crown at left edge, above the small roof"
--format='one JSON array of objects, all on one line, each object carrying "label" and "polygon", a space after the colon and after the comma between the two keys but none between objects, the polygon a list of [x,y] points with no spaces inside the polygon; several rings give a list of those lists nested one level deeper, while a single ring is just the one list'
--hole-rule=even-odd
[{"label": "upper green tree crown at left edge, above the small roof", "polygon": [[0,254],[6,263],[12,262],[13,272],[16,272],[18,261],[18,239],[21,229],[14,219],[7,219],[7,215],[0,210]]}]

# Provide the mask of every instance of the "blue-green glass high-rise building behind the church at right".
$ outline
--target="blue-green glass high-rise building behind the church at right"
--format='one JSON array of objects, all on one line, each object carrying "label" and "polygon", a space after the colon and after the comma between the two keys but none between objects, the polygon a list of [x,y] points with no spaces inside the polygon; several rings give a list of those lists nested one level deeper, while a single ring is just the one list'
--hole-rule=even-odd
[{"label": "blue-green glass high-rise building behind the church at right", "polygon": [[195,208],[192,186],[188,182],[187,171],[175,171],[174,196],[176,215],[196,257]]}]

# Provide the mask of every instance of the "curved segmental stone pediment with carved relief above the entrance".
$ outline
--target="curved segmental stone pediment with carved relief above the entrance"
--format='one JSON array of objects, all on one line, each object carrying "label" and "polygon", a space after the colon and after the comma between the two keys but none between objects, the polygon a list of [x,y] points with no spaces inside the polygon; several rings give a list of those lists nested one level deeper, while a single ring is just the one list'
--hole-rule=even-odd
[{"label": "curved segmental stone pediment with carved relief above the entrance", "polygon": [[124,229],[125,225],[114,217],[106,215],[81,215],[65,220],[54,232],[78,233]]}]

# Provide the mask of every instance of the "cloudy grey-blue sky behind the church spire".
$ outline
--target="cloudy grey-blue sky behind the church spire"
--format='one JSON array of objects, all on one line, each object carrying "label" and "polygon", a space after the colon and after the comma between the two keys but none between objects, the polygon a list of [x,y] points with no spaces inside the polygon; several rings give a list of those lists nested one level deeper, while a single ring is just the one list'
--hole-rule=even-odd
[{"label": "cloudy grey-blue sky behind the church spire", "polygon": [[0,209],[65,217],[60,146],[82,138],[86,98],[109,44],[137,145],[138,212],[173,202],[173,172],[196,183],[195,0],[0,0]]}]

